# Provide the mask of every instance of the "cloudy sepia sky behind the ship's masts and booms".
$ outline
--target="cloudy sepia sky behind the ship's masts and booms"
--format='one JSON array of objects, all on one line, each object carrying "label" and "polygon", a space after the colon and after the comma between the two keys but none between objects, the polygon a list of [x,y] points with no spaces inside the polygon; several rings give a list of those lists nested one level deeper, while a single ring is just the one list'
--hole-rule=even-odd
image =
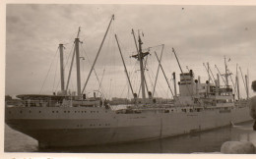
[{"label": "cloudy sepia sky behind the ship's masts and booms", "polygon": [[[208,79],[203,63],[209,62],[215,76],[218,73],[215,65],[224,74],[224,56],[226,61],[230,59],[227,66],[233,81],[236,64],[243,76],[249,73],[250,81],[256,79],[256,6],[8,4],[5,94],[52,94],[58,91],[58,45],[63,43],[65,46],[66,82],[79,27],[79,37],[83,41],[81,57],[85,58],[81,60],[84,86],[113,14],[115,19],[96,61],[97,78],[94,72],[85,90],[89,95],[99,89],[107,98],[131,97],[114,34],[117,34],[132,85],[136,92],[139,91],[138,61],[130,58],[136,53],[132,28],[136,38],[140,31],[143,48],[150,48],[145,72],[151,91],[158,69],[155,51],[160,56],[161,44],[164,44],[161,65],[171,87],[171,74],[180,74],[172,47],[183,72],[189,68],[194,71],[195,78],[201,77],[201,81]],[[69,88],[76,91],[75,67],[73,71]],[[240,72],[238,76],[241,96],[245,97]],[[98,88],[100,81],[102,88]],[[251,88],[250,95],[253,95]],[[156,96],[171,96],[161,72]]]}]

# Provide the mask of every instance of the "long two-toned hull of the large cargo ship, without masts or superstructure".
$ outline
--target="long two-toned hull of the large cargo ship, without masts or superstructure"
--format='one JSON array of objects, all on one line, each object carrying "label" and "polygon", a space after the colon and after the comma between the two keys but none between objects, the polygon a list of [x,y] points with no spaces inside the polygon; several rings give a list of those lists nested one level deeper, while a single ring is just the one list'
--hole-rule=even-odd
[{"label": "long two-toned hull of the large cargo ship, without masts or superstructure", "polygon": [[40,147],[138,141],[207,131],[250,120],[248,107],[140,114],[116,114],[105,108],[6,108],[6,123],[38,140]]}]

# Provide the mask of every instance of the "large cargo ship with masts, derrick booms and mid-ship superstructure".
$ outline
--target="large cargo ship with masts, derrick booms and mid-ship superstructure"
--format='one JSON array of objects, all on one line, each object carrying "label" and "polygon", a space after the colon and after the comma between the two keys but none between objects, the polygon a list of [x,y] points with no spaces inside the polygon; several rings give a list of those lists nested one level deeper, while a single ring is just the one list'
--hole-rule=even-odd
[{"label": "large cargo ship with masts, derrick booms and mid-ship superstructure", "polygon": [[[114,17],[110,20],[96,58],[113,20]],[[136,39],[134,31],[133,35]],[[207,131],[252,120],[246,100],[234,99],[233,89],[228,85],[227,77],[230,74],[226,72],[226,65],[225,85],[221,85],[219,76],[214,82],[201,82],[200,78],[195,79],[192,70],[185,73],[181,70],[180,81],[177,82],[173,73],[174,91],[168,86],[173,99],[169,103],[157,102],[153,93],[146,93],[145,90],[147,85],[144,60],[150,52],[143,52],[140,33],[138,43],[135,40],[136,47],[138,46],[137,54],[132,57],[140,62],[142,97],[139,98],[134,92],[123,61],[133,99],[123,105],[122,109],[113,109],[106,99],[96,97],[96,93],[94,97],[89,98],[83,93],[86,84],[81,90],[78,37],[79,33],[74,49],[77,60],[76,94],[68,93],[68,86],[65,88],[63,44],[60,44],[61,91],[52,95],[21,94],[17,95],[20,102],[6,102],[5,123],[12,129],[36,139],[41,148],[141,141]],[[115,38],[123,59],[116,35]],[[158,57],[157,54],[156,56]],[[164,74],[159,58],[158,62]],[[96,60],[90,75],[94,71],[95,63]]]}]

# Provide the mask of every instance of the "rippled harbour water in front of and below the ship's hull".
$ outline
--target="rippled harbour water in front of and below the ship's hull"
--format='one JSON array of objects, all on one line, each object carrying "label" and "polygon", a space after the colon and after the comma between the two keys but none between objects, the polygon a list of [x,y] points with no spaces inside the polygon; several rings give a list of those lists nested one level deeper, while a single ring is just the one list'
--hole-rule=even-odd
[{"label": "rippled harbour water in front of and below the ship's hull", "polygon": [[140,141],[125,144],[39,149],[37,141],[5,125],[5,152],[69,152],[69,153],[193,153],[220,152],[224,141],[250,140],[256,143],[253,122],[207,132]]}]

